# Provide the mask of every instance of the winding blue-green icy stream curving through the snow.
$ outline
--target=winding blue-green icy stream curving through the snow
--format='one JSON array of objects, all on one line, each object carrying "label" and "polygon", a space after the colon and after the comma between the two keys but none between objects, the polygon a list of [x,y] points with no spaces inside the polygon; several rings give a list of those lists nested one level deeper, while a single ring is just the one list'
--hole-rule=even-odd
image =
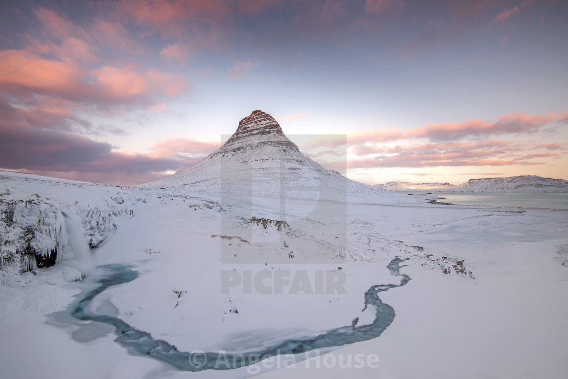
[{"label": "winding blue-green icy stream curving through the snow", "polygon": [[[387,266],[392,276],[401,277],[400,284],[375,285],[365,293],[364,310],[369,306],[375,308],[373,323],[357,327],[358,319],[355,319],[351,326],[336,328],[317,336],[286,340],[278,345],[259,351],[224,353],[223,358],[226,359],[223,361],[224,364],[219,364],[219,352],[182,352],[164,340],[153,339],[148,332],[137,330],[116,316],[93,314],[86,311],[93,298],[110,286],[135,280],[138,277],[138,273],[132,270],[132,266],[120,264],[99,266],[103,273],[92,279],[95,284],[98,284],[97,287],[78,298],[69,306],[69,309],[71,310],[70,314],[74,318],[114,326],[114,332],[117,336],[115,341],[133,355],[152,357],[176,369],[187,371],[241,368],[257,363],[258,357],[266,359],[277,355],[298,354],[311,351],[312,349],[337,347],[377,338],[389,327],[395,316],[394,309],[390,305],[383,303],[378,294],[391,288],[406,285],[410,281],[410,277],[399,272],[400,264],[403,261],[403,259],[397,257]],[[68,313],[69,311],[66,312]],[[75,336],[74,339],[81,340],[75,338]],[[227,362],[229,364],[226,364]]]}]

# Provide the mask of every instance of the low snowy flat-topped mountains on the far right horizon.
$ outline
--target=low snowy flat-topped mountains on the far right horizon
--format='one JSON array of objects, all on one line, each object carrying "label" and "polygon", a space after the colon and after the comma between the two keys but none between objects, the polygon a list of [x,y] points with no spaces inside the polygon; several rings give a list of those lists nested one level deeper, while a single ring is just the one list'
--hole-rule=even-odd
[{"label": "low snowy flat-topped mountains on the far right horizon", "polygon": [[471,191],[471,192],[568,192],[568,181],[536,175],[507,178],[470,179],[462,184],[388,182],[378,188],[399,190]]}]

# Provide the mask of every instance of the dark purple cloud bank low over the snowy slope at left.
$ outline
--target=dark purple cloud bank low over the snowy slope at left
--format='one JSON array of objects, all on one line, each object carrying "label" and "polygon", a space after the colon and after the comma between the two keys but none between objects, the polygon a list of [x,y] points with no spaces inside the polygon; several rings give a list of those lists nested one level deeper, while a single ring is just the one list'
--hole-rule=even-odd
[{"label": "dark purple cloud bank low over the snowy slope at left", "polygon": [[[120,173],[122,178],[128,178],[128,184],[140,184],[143,178],[154,178],[154,173],[159,176],[194,163],[203,157],[202,150],[195,151],[193,156],[174,147],[169,151],[165,147],[156,149],[154,154],[118,152],[109,143],[74,132],[0,126],[0,166],[39,174],[58,173],[56,177],[77,180],[89,180],[93,174],[103,178]],[[74,174],[70,177],[62,173]]]}]

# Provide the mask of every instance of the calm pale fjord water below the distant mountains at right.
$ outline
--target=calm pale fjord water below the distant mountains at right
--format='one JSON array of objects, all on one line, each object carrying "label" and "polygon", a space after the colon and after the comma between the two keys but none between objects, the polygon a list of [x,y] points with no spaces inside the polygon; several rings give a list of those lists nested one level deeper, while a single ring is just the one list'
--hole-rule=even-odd
[{"label": "calm pale fjord water below the distant mountains at right", "polygon": [[[410,191],[412,192],[412,191]],[[443,197],[440,202],[456,205],[486,205],[492,207],[521,207],[568,209],[568,193],[566,192],[438,192],[425,194],[424,191],[414,191],[432,197]]]}]

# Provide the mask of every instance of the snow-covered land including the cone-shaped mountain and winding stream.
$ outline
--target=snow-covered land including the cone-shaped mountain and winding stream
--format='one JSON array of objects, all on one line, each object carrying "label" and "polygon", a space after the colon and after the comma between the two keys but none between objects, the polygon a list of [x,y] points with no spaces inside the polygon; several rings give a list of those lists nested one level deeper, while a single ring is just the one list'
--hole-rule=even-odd
[{"label": "snow-covered land including the cone-shaped mountain and winding stream", "polygon": [[260,111],[148,185],[0,172],[0,206],[2,377],[568,375],[567,211],[349,181]]}]

